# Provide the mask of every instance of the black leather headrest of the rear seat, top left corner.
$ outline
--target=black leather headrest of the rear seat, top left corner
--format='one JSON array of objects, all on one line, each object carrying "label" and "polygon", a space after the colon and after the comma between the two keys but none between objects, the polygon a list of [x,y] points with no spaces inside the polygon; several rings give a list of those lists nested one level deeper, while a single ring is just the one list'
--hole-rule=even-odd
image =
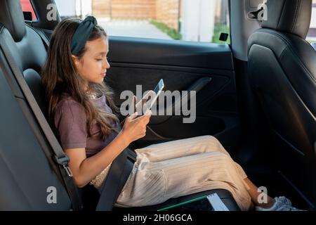
[{"label": "black leather headrest of the rear seat, top left corner", "polygon": [[25,35],[25,23],[20,0],[0,0],[0,23],[11,33],[18,42]]}]

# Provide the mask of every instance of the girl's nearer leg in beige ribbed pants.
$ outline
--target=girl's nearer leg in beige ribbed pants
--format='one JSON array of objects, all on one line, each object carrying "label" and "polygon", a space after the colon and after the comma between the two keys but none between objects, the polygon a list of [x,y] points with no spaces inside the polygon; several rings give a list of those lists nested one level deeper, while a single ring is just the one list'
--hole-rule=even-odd
[{"label": "girl's nearer leg in beige ribbed pants", "polygon": [[169,198],[212,189],[232,193],[242,210],[249,210],[251,197],[228,155],[215,152],[149,162],[138,155],[135,171],[119,195],[120,207],[156,205]]}]

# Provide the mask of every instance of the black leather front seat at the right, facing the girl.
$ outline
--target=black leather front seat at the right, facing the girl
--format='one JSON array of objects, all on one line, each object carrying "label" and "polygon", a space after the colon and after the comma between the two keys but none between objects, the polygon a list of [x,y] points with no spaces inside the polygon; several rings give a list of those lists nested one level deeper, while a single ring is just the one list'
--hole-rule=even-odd
[{"label": "black leather front seat at the right, facing the girl", "polygon": [[305,41],[312,0],[267,4],[268,20],[248,41],[249,79],[273,134],[270,158],[315,207],[316,52]]}]

